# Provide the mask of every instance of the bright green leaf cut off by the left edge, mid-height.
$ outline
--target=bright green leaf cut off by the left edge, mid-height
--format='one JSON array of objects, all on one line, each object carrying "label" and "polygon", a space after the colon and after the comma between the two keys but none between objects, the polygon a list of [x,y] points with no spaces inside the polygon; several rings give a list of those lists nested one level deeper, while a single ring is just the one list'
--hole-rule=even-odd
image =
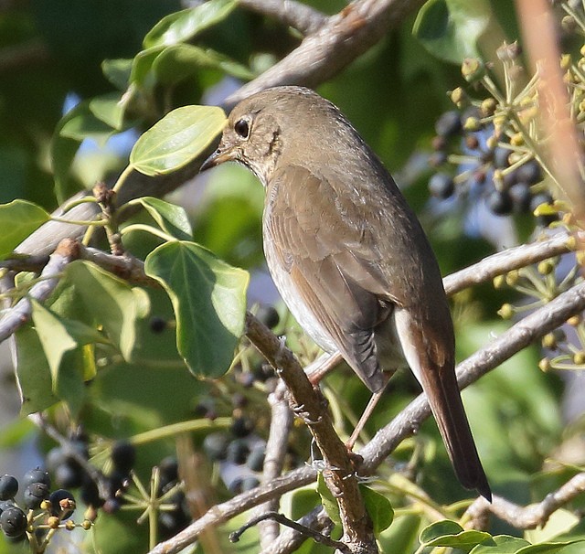
[{"label": "bright green leaf cut off by the left edge, mid-height", "polygon": [[0,258],[12,253],[20,242],[50,218],[47,211],[27,200],[13,200],[8,204],[1,204]]}]

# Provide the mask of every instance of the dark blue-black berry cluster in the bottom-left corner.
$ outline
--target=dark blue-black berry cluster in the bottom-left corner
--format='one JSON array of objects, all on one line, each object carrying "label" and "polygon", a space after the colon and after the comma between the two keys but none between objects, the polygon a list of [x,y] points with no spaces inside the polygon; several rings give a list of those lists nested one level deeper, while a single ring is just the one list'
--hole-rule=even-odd
[{"label": "dark blue-black berry cluster in the bottom-left corner", "polygon": [[[22,500],[16,502],[19,490]],[[0,528],[9,540],[28,539],[34,551],[45,551],[58,529],[91,527],[88,519],[80,524],[69,519],[75,508],[74,496],[63,488],[52,490],[50,475],[43,469],[28,471],[20,483],[13,475],[0,477]]]}]

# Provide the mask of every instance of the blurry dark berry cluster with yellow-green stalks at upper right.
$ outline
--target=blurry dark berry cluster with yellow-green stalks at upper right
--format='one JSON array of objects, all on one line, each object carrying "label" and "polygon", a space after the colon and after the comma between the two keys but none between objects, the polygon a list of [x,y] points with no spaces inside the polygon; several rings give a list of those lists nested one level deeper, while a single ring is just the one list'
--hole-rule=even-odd
[{"label": "blurry dark berry cluster with yellow-green stalks at upper right", "polygon": [[489,96],[472,100],[461,88],[452,91],[459,109],[444,112],[435,124],[430,164],[437,171],[429,189],[433,197],[481,203],[499,216],[534,213],[538,225],[548,226],[558,216],[553,208],[538,209],[552,206],[553,198],[535,131],[536,84],[531,80],[521,86],[519,55],[516,43],[497,51],[505,91],[497,88],[481,61],[463,62],[463,77],[483,86]]}]

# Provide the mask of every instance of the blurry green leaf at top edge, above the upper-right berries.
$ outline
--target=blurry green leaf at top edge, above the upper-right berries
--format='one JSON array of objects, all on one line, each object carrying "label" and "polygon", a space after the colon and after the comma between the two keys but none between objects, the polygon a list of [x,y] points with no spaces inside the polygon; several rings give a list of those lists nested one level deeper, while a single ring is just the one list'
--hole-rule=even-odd
[{"label": "blurry green leaf at top edge, above the upper-right berries", "polygon": [[487,0],[428,0],[420,8],[412,33],[433,56],[461,63],[481,58],[478,39],[490,22]]}]

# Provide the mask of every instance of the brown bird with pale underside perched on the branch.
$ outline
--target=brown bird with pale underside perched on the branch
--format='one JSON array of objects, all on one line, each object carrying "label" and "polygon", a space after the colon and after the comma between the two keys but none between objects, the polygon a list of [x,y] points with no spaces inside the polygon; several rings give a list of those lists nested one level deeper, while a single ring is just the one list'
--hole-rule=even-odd
[{"label": "brown bird with pale underside perched on the branch", "polygon": [[248,167],[266,188],[264,252],[282,299],[373,393],[409,366],[463,486],[491,500],[454,371],[441,272],[378,156],[329,101],[302,87],[250,96],[202,165]]}]

